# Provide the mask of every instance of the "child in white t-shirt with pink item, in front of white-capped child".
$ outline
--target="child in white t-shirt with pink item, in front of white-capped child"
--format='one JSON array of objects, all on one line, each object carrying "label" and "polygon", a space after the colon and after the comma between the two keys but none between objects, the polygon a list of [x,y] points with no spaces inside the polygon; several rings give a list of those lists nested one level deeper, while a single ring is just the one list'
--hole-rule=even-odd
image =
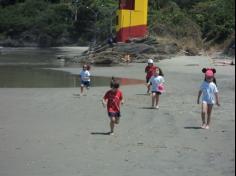
[{"label": "child in white t-shirt with pink item, in front of white-capped child", "polygon": [[160,95],[164,92],[164,77],[157,69],[148,82],[147,86],[152,86],[152,108],[159,109]]}]

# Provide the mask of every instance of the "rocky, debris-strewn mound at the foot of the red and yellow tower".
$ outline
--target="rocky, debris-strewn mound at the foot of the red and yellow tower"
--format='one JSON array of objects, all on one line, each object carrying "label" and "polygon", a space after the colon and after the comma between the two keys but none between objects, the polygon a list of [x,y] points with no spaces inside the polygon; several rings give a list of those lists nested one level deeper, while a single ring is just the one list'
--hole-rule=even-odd
[{"label": "rocky, debris-strewn mound at the foot of the red and yellow tower", "polygon": [[[122,58],[129,54],[134,63],[145,63],[150,57],[155,62],[163,59],[170,59],[178,53],[180,48],[174,42],[160,44],[154,39],[143,39],[141,41],[132,41],[130,43],[116,43],[111,48],[108,44],[101,44],[83,52],[80,56],[73,56],[69,62],[90,63],[94,65],[114,65],[122,64]],[[67,58],[69,56],[64,56]]]}]

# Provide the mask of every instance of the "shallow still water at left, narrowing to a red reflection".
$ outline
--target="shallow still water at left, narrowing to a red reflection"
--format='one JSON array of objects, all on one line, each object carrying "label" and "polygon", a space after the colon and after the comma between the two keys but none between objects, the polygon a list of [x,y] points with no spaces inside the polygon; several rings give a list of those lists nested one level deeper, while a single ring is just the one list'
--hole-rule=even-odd
[{"label": "shallow still water at left, narrowing to a red reflection", "polygon": [[[0,53],[0,88],[64,88],[79,87],[79,75],[46,68],[78,67],[57,59],[58,55],[78,55],[79,48],[4,48]],[[108,77],[92,77],[91,86],[109,86]],[[142,81],[119,78],[122,85],[139,84]]]}]

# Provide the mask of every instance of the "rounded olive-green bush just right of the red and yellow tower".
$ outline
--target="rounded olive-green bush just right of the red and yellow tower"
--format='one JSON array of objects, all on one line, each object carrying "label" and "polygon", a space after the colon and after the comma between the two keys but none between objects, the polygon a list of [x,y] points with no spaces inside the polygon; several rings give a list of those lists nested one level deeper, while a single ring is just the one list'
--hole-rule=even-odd
[{"label": "rounded olive-green bush just right of the red and yellow tower", "polygon": [[[201,32],[199,26],[191,20],[176,3],[169,2],[168,6],[157,11],[157,24],[149,26],[152,34],[161,37],[171,37],[179,41],[193,40],[198,47],[201,45]],[[151,16],[150,21],[154,21]]]}]

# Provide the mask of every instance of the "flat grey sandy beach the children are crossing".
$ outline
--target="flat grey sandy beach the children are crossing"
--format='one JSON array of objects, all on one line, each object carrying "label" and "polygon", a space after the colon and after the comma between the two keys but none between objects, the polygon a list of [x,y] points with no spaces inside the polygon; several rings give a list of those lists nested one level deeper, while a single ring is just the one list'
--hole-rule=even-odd
[{"label": "flat grey sandy beach the children are crossing", "polygon": [[[122,86],[122,118],[109,131],[101,98],[79,88],[0,88],[0,176],[233,176],[235,175],[235,66],[208,57],[157,63],[166,80],[160,109],[150,109],[144,84]],[[145,79],[146,64],[92,68],[96,76]],[[202,130],[201,69],[215,67],[221,107]],[[79,74],[81,68],[61,70]]]}]

